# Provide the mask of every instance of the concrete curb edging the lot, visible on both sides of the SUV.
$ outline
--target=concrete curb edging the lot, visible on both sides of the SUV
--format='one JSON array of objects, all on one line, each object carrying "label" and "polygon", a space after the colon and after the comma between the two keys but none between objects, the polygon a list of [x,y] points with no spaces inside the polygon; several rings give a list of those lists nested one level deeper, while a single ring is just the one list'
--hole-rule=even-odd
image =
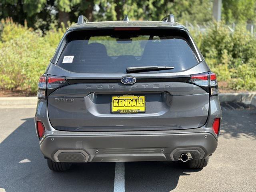
[{"label": "concrete curb edging the lot, visible on both sides of the SUV", "polygon": [[[256,106],[256,92],[220,93],[220,102],[237,101]],[[0,97],[0,108],[35,108],[37,97]]]}]

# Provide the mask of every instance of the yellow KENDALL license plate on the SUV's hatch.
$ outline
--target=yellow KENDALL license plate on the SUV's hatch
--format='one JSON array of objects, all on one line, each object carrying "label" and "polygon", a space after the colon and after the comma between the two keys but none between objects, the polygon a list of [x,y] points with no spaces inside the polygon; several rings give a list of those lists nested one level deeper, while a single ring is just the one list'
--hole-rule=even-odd
[{"label": "yellow KENDALL license plate on the SUV's hatch", "polygon": [[112,96],[112,113],[138,113],[146,112],[145,96]]}]

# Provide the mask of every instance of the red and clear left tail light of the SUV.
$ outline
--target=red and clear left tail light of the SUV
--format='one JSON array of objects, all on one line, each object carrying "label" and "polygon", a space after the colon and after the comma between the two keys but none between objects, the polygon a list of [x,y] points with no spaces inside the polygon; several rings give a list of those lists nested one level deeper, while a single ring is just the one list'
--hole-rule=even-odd
[{"label": "red and clear left tail light of the SUV", "polygon": [[38,83],[38,92],[37,97],[40,99],[46,99],[46,89],[48,90],[48,94],[53,92],[55,89],[67,85],[68,81],[65,77],[59,76],[46,76],[45,74],[40,76]]}]

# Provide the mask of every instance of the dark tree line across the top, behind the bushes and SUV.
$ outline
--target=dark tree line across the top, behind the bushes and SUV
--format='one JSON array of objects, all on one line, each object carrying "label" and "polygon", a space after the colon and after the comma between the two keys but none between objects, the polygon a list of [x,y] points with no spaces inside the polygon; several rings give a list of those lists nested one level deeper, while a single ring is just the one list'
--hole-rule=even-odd
[{"label": "dark tree line across the top, behind the bushes and SUV", "polygon": [[[222,18],[230,22],[254,22],[255,0],[223,0]],[[90,21],[161,20],[174,14],[176,21],[201,24],[212,20],[212,0],[2,0],[0,18],[46,31],[52,23],[76,22],[79,15]]]}]

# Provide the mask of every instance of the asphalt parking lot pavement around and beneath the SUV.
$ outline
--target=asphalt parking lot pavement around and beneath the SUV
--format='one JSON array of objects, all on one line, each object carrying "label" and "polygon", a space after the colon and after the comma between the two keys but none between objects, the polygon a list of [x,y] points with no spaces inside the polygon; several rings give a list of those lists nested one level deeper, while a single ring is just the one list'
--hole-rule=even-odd
[{"label": "asphalt parking lot pavement around and beneath the SUV", "polygon": [[35,108],[0,109],[0,192],[256,191],[256,110],[223,111],[208,166],[178,162],[74,164],[52,172],[34,128]]}]

